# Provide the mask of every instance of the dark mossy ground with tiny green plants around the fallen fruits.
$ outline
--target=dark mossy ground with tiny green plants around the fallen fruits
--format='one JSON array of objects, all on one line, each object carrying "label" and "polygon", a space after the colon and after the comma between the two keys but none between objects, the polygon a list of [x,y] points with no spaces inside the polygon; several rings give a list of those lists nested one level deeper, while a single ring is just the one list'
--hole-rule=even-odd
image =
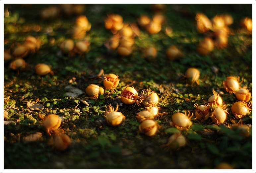
[{"label": "dark mossy ground with tiny green plants around the fallen fruits", "polygon": [[[243,79],[240,86],[254,96],[253,37],[240,23],[245,17],[253,17],[255,4],[165,4],[161,10],[165,22],[156,34],[138,26],[141,15],[154,16],[153,4],[84,4],[80,14],[68,15],[60,11],[58,17],[51,19],[43,19],[42,10],[50,6],[61,8],[60,4],[1,5],[9,12],[3,17],[4,35],[1,38],[4,45],[1,50],[4,48],[12,53],[27,36],[41,42],[38,51],[23,58],[27,63],[24,70],[11,69],[9,66],[14,58],[3,63],[1,56],[2,102],[8,113],[4,121],[10,122],[1,123],[1,169],[214,169],[226,162],[234,169],[255,170],[253,110],[241,118],[242,123],[250,127],[250,135],[245,137],[231,128],[231,120],[235,119],[231,106],[237,99],[223,87],[227,77],[239,76]],[[204,56],[196,51],[199,41],[206,36],[215,37],[214,31],[206,35],[197,30],[195,17],[198,12],[210,20],[222,14],[233,18],[233,23],[228,25],[228,44],[221,48],[215,46]],[[123,22],[134,23],[139,28],[140,35],[134,37],[129,56],[120,56],[117,50],[106,48],[105,43],[113,36],[105,28],[108,14],[118,14]],[[81,15],[92,25],[83,38],[91,43],[90,50],[82,54],[63,54],[60,44],[64,40],[79,40],[72,38],[71,29]],[[165,33],[166,27],[172,28],[171,34]],[[183,54],[174,60],[166,56],[167,48],[172,45]],[[144,57],[143,50],[149,46],[157,49],[155,59]],[[53,75],[37,75],[34,67],[38,63],[49,65]],[[187,85],[184,80],[190,67],[199,69],[199,85]],[[97,76],[102,70],[104,74],[118,75],[120,82],[112,90],[105,89],[104,94],[94,100],[88,97],[85,89],[90,84],[103,87]],[[67,86],[84,93],[69,97]],[[156,120],[159,128],[154,136],[139,132],[136,115],[144,107],[124,104],[120,100],[121,91],[127,86],[134,87],[139,94],[144,89],[158,94],[157,106],[163,115]],[[213,123],[210,118],[205,122],[195,120],[194,104],[205,104],[213,95],[213,89],[222,97],[228,113],[221,124]],[[252,98],[248,103],[252,103]],[[27,107],[27,102],[36,100],[44,109],[33,111]],[[109,104],[114,107],[119,104],[118,111],[126,117],[119,126],[110,126],[105,121]],[[187,130],[170,126],[173,114],[188,111],[194,115],[192,126]],[[62,118],[59,130],[71,138],[70,146],[64,151],[49,145],[52,136],[42,128],[40,117],[49,114]],[[185,136],[186,145],[166,150],[162,146],[176,132]]]}]

